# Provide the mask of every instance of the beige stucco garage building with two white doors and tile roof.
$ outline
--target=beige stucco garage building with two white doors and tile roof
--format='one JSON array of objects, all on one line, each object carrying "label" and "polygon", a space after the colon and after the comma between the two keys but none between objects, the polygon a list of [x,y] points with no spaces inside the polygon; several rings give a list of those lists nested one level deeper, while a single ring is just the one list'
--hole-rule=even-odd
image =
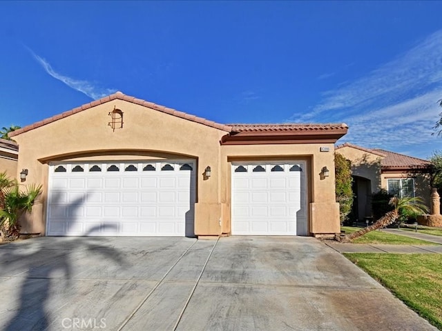
[{"label": "beige stucco garage building with two white doors and tile roof", "polygon": [[10,134],[44,187],[21,232],[48,236],[340,232],[345,124],[215,123],[116,92]]}]

